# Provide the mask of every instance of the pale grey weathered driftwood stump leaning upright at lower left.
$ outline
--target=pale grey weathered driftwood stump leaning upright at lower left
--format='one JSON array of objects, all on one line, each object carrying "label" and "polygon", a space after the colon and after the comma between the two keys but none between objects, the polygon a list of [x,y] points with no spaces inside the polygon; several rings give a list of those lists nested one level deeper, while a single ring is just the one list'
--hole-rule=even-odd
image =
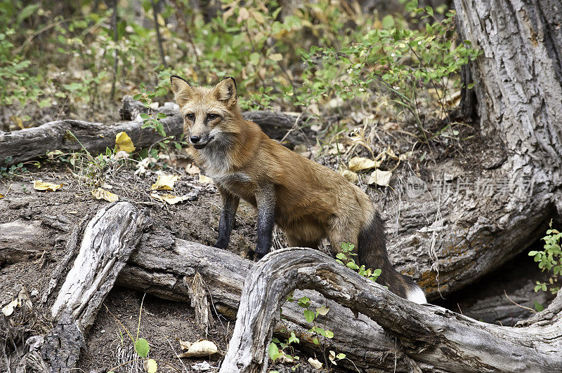
[{"label": "pale grey weathered driftwood stump leaning upright at lower left", "polygon": [[[118,202],[99,210],[86,226],[77,256],[51,306],[53,319],[58,321],[41,346],[50,372],[68,372],[75,367],[84,346],[84,332],[93,324],[147,222],[143,211],[131,203]],[[71,236],[70,242],[76,240]]]}]

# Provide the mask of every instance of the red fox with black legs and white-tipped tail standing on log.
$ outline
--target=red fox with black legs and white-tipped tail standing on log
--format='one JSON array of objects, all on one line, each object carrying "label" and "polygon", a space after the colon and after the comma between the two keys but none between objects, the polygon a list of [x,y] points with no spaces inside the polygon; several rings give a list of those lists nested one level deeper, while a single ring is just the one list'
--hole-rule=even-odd
[{"label": "red fox with black legs and white-tipped tail standing on log", "polygon": [[258,257],[269,252],[275,223],[290,246],[318,248],[325,237],[333,250],[352,243],[360,264],[381,269],[379,283],[400,297],[426,303],[420,287],[388,260],[383,222],[367,194],[271,140],[256,123],[244,121],[233,78],[214,88],[192,86],[179,76],[171,76],[170,82],[184,118],[188,151],[213,179],[223,201],[216,247],[228,246],[243,198],[258,211]]}]

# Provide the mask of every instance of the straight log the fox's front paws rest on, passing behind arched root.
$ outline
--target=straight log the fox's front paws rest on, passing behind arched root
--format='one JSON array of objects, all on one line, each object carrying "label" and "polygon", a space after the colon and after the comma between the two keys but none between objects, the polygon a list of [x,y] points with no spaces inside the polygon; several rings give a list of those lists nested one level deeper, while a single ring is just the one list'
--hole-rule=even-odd
[{"label": "straight log the fox's front paws rest on, passing behind arched root", "polygon": [[[164,299],[190,303],[190,286],[195,273],[200,273],[209,293],[211,309],[230,319],[236,316],[244,278],[254,262],[216,247],[174,238],[170,233],[145,233],[141,244],[129,258],[117,278],[117,285],[140,290]],[[326,299],[310,290],[296,291],[295,298],[309,297],[313,307],[326,304]],[[348,308],[327,301],[332,309],[326,328],[334,332],[329,341],[336,351],[346,353],[360,368],[394,369],[398,356],[398,372],[407,372],[403,356],[395,340],[365,316],[355,316]],[[283,320],[277,332],[287,337],[287,330],[301,339],[301,348],[318,351],[307,331],[303,308],[294,303],[283,306]],[[353,368],[351,363],[348,367]]]}]

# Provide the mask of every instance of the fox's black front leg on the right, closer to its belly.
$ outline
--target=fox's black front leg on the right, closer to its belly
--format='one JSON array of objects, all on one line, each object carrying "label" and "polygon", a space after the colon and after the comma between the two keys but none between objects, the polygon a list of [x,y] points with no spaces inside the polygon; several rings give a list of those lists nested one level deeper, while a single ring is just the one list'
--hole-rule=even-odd
[{"label": "fox's black front leg on the right, closer to its belly", "polygon": [[266,184],[256,193],[258,207],[258,243],[256,255],[261,258],[269,252],[273,226],[275,225],[275,189]]}]

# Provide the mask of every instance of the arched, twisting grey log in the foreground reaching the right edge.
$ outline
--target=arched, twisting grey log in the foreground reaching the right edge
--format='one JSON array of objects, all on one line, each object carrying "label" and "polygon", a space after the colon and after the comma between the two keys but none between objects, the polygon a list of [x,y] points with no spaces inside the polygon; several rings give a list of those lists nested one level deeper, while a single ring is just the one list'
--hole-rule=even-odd
[{"label": "arched, twisting grey log in the foreground reaching the right edge", "polygon": [[502,327],[414,304],[321,252],[288,248],[263,257],[247,276],[220,372],[267,372],[267,347],[280,307],[297,288],[317,290],[376,320],[396,337],[415,372],[421,372],[418,362],[448,372],[562,370],[562,292],[525,327]]}]

